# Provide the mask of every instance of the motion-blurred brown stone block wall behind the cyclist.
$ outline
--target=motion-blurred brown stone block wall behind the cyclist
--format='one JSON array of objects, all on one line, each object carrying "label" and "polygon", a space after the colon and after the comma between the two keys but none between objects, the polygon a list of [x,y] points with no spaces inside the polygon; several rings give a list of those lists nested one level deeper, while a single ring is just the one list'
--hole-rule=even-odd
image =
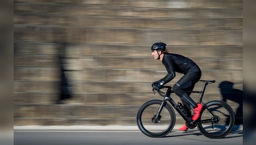
[{"label": "motion-blurred brown stone block wall behind the cyclist", "polygon": [[203,101],[227,102],[242,124],[242,12],[242,0],[14,0],[14,125],[136,125],[140,105],[162,99],[155,42],[195,61],[216,81]]}]

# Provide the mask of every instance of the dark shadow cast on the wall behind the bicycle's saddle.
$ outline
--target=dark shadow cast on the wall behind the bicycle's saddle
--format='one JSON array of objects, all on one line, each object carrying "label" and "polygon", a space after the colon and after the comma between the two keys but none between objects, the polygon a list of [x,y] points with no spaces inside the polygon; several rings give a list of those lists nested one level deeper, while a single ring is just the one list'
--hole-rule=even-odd
[{"label": "dark shadow cast on the wall behind the bicycle's saddle", "polygon": [[239,104],[235,113],[235,125],[243,124],[243,91],[233,88],[234,83],[230,81],[222,81],[219,84],[219,88],[222,95],[222,101],[227,102],[227,100],[236,102]]}]

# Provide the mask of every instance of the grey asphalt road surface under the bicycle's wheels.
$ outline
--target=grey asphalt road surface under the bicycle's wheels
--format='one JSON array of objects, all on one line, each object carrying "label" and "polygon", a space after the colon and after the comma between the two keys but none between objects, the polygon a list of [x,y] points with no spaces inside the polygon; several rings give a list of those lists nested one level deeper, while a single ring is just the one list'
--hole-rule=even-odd
[{"label": "grey asphalt road surface under the bicycle's wheels", "polygon": [[14,145],[243,145],[243,131],[209,139],[199,131],[151,138],[140,131],[14,131]]}]

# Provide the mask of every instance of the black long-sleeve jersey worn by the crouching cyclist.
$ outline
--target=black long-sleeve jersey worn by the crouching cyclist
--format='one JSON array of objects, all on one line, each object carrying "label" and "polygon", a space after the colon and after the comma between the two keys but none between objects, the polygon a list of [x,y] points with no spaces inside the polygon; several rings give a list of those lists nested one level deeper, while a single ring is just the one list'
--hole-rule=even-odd
[{"label": "black long-sleeve jersey worn by the crouching cyclist", "polygon": [[191,59],[178,54],[166,53],[163,55],[163,65],[166,67],[168,74],[161,80],[164,84],[168,83],[175,77],[175,72],[186,75],[189,71],[201,71],[197,64]]}]

